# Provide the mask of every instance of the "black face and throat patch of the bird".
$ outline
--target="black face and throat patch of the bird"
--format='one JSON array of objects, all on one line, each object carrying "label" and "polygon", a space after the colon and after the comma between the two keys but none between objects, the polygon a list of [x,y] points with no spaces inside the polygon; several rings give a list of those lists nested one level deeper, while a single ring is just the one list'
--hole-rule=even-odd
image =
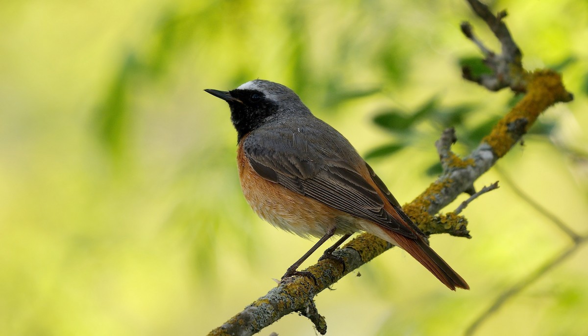
[{"label": "black face and throat patch of the bird", "polygon": [[240,101],[229,102],[230,119],[237,130],[237,141],[278,111],[278,104],[266,98],[261,91],[235,89],[229,93]]}]

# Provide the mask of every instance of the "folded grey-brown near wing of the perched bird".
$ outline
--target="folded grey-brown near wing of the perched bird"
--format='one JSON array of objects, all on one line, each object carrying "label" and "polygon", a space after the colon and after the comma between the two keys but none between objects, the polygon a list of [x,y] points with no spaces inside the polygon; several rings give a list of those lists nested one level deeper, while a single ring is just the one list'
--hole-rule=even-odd
[{"label": "folded grey-brown near wing of the perched bird", "polygon": [[[249,140],[250,137],[243,144],[251,167],[261,177],[355,217],[373,221],[407,238],[417,237],[415,231],[386,211],[385,200],[372,184],[340,155],[352,154],[337,150],[329,152],[325,148],[328,144],[324,143],[320,148],[312,148],[313,144],[305,142],[300,136],[296,142],[292,142],[286,141],[285,137],[272,135],[264,139],[272,141],[271,149],[267,145],[263,146],[259,139]],[[355,150],[353,154],[356,157],[352,159],[359,158],[363,162]]]}]

